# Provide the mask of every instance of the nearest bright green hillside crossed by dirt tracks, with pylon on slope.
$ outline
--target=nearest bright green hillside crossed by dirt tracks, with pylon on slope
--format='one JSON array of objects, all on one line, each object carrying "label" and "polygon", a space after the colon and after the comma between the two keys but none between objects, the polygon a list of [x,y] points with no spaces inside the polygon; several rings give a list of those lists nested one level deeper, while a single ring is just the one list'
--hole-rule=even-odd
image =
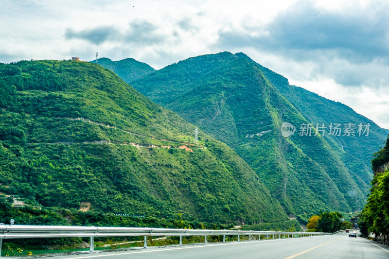
[{"label": "nearest bright green hillside crossed by dirt tracks, with pylon on slope", "polygon": [[248,224],[288,220],[226,144],[116,74],[77,61],[0,64],[0,191],[46,207]]}]

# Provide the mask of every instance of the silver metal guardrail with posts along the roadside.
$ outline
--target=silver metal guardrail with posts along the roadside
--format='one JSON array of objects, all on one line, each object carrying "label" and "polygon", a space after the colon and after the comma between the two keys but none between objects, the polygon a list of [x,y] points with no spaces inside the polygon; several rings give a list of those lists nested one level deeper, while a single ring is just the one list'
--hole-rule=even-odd
[{"label": "silver metal guardrail with posts along the roadside", "polygon": [[[226,242],[226,236],[249,236],[259,237],[269,236],[277,237],[308,237],[332,235],[334,233],[322,232],[283,232],[283,231],[240,231],[240,230],[208,230],[208,229],[175,229],[175,228],[148,228],[148,227],[100,227],[100,226],[51,226],[51,225],[0,225],[0,251],[3,239],[19,238],[70,238],[70,237],[89,237],[89,251],[94,250],[95,237],[141,237],[144,236],[144,248],[147,247],[148,236],[179,236],[182,245],[183,236],[223,236],[223,242]],[[260,240],[260,238],[259,238]]]}]

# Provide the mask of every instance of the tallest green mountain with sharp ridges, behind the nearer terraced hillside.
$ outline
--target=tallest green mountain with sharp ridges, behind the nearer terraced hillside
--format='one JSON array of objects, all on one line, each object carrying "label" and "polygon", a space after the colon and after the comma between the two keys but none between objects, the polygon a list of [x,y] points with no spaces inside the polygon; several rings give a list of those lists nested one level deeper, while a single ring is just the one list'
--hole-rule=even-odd
[{"label": "tallest green mountain with sharp ridges, behind the nearer terraced hillside", "polygon": [[[291,217],[306,222],[320,209],[348,212],[363,207],[372,177],[371,151],[387,133],[346,105],[290,86],[243,53],[189,58],[131,85],[232,147]],[[283,122],[297,132],[284,138]],[[309,123],[311,136],[300,136]],[[369,136],[331,137],[328,128],[316,135],[316,123],[371,126]]]}]

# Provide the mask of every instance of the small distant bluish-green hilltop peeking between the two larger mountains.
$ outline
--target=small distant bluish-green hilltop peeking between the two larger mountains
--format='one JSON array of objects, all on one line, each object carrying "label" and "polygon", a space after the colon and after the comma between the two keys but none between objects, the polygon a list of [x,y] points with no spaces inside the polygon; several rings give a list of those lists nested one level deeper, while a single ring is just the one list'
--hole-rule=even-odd
[{"label": "small distant bluish-green hilltop peeking between the two larger mountains", "polygon": [[[96,63],[96,60],[92,60],[90,62]],[[103,66],[104,68],[109,69],[118,75],[120,74],[121,78],[125,82],[134,81],[144,75],[155,71],[155,69],[153,69],[146,63],[139,62],[133,58],[112,61],[109,58],[103,57],[97,59],[97,62],[100,66]]]}]

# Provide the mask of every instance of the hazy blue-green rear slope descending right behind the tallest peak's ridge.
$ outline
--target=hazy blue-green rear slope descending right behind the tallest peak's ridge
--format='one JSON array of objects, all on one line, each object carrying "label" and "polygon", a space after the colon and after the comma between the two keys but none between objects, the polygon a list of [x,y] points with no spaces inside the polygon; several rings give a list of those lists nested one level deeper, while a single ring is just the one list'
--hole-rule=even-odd
[{"label": "hazy blue-green rear slope descending right behind the tallest peak's ridge", "polygon": [[[243,53],[238,54],[249,59]],[[249,60],[255,63],[251,59]],[[336,150],[336,153],[354,174],[354,177],[356,179],[360,178],[365,183],[365,186],[369,184],[373,176],[370,170],[371,154],[384,141],[385,136],[388,134],[387,131],[368,118],[357,114],[349,106],[328,100],[304,88],[291,86],[282,75],[261,65],[259,66],[269,82],[293,104],[307,121],[314,125],[316,123],[319,123],[319,125],[324,123],[326,126],[329,126],[331,123],[340,123],[342,125],[354,123],[357,127],[359,123],[364,125],[370,124],[369,136],[359,137],[358,134],[355,137],[343,136],[343,134],[340,136],[325,134],[323,136],[331,147]]]}]

